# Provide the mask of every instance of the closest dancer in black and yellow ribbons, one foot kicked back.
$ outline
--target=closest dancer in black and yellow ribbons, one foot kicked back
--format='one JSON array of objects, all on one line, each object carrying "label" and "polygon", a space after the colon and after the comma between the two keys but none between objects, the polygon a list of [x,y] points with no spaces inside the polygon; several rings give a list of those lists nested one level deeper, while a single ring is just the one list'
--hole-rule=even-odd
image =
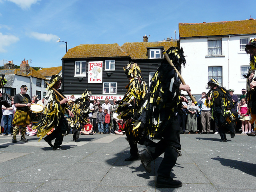
[{"label": "closest dancer in black and yellow ribbons, one foot kicked back", "polygon": [[[188,102],[180,96],[180,90],[191,94],[188,85],[180,84],[177,74],[181,65],[186,64],[182,48],[171,47],[166,53],[151,80],[149,93],[142,103],[142,113],[133,130],[150,134],[152,138],[162,137],[158,143],[150,142],[144,150],[138,152],[138,156],[146,171],[151,172],[150,162],[164,153],[158,168],[156,187],[176,188],[182,186],[182,182],[170,176],[178,156],[181,156],[180,126],[176,113],[181,110],[182,101]],[[169,57],[173,65],[168,62]]]}]

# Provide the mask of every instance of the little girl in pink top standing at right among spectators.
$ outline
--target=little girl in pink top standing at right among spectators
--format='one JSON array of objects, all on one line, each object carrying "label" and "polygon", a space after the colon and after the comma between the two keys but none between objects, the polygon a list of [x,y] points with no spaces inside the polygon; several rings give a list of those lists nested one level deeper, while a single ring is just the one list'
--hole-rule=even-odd
[{"label": "little girl in pink top standing at right among spectators", "polygon": [[246,134],[247,132],[251,132],[251,124],[249,123],[250,117],[247,114],[248,107],[246,104],[245,98],[242,98],[240,101],[239,111],[240,120],[242,121],[242,134]]}]

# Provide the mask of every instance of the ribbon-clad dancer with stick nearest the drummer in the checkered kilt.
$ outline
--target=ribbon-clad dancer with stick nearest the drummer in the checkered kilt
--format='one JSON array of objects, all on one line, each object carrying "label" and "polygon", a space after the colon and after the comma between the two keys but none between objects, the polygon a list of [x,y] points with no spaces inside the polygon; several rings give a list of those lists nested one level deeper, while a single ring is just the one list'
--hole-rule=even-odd
[{"label": "ribbon-clad dancer with stick nearest the drummer in the checkered kilt", "polygon": [[[50,84],[46,88],[48,92],[45,96],[45,112],[44,118],[41,122],[34,126],[33,129],[38,129],[37,136],[40,137],[39,141],[53,128],[54,131],[48,134],[44,140],[52,147],[52,150],[63,150],[61,147],[63,137],[68,130],[68,124],[64,117],[65,112],[67,112],[70,117],[73,117],[69,106],[67,105],[68,99],[62,98],[57,92],[52,88],[57,90],[62,96],[62,91],[60,90],[62,83],[62,78],[58,74],[52,75],[50,79]],[[52,140],[55,139],[54,144],[52,145]]]}]

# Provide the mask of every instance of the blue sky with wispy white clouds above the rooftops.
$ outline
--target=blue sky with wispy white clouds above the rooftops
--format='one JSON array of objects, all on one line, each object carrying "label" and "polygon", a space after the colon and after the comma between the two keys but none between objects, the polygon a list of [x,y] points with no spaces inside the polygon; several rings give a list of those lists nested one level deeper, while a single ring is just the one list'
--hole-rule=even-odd
[{"label": "blue sky with wispy white clouds above the rooftops", "polygon": [[[178,23],[256,19],[256,2],[206,0],[0,0],[0,65],[61,66],[80,44],[179,38]],[[255,14],[254,14],[255,13]]]}]

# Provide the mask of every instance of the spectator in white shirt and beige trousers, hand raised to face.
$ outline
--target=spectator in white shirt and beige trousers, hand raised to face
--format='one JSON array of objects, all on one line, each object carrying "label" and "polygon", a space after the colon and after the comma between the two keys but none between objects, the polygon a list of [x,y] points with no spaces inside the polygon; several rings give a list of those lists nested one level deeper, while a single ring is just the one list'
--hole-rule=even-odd
[{"label": "spectator in white shirt and beige trousers, hand raised to face", "polygon": [[[208,108],[204,105],[204,102],[206,100],[205,96],[206,96],[206,92],[202,92],[202,96],[198,100],[198,104],[202,104],[202,107],[201,107],[202,132],[200,134],[210,134],[210,128],[211,128],[211,113],[210,113],[211,108]],[[207,127],[207,132],[206,132],[206,127]]]}]

